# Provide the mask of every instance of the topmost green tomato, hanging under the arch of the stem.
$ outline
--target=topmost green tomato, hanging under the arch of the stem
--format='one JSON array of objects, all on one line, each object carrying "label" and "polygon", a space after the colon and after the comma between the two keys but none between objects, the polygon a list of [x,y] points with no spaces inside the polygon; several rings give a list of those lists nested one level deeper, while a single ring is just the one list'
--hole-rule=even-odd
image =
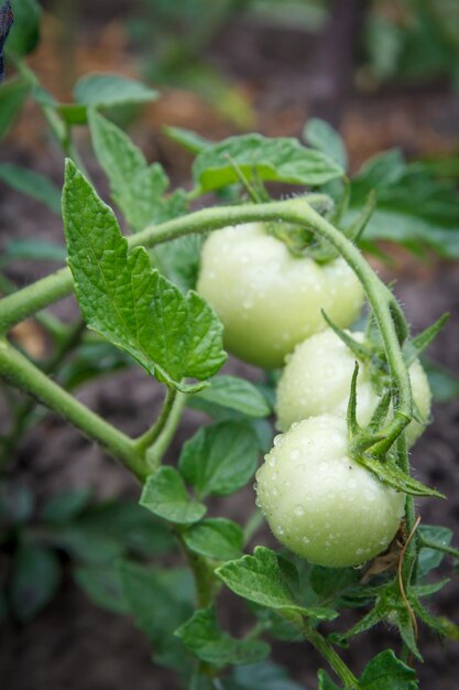
[{"label": "topmost green tomato, hanging under the arch of the stem", "polygon": [[293,257],[260,223],[209,236],[197,291],[223,323],[228,351],[266,368],[283,366],[297,343],[326,327],[321,309],[346,327],[363,302],[363,290],[341,258],[319,266]]}]

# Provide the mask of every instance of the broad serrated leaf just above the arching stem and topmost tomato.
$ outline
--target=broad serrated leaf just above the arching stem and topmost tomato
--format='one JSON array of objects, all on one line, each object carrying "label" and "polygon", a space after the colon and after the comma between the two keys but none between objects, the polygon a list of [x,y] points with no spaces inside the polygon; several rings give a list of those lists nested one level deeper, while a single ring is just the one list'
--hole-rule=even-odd
[{"label": "broad serrated leaf just above the arching stem and topmost tomato", "polygon": [[238,182],[234,163],[251,179],[316,186],[341,177],[342,169],[320,151],[296,139],[267,139],[261,134],[231,137],[204,149],[193,165],[193,176],[203,192]]}]

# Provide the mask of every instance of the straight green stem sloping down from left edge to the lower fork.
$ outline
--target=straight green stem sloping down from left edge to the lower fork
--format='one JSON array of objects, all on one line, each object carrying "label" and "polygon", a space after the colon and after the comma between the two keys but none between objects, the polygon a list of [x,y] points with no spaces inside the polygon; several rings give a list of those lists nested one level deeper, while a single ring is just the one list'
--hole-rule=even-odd
[{"label": "straight green stem sloping down from left edge to the lower fork", "polygon": [[138,478],[144,478],[145,464],[132,439],[81,405],[4,341],[0,343],[0,375],[105,446]]}]

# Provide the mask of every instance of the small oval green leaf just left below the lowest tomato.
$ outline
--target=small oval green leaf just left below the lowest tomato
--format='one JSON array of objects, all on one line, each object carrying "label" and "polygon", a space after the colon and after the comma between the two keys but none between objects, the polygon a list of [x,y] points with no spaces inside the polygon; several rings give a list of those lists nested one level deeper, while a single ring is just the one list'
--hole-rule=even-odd
[{"label": "small oval green leaf just left below the lowest tomato", "polygon": [[192,525],[183,539],[190,551],[215,561],[229,561],[242,553],[243,530],[226,518],[208,518]]}]

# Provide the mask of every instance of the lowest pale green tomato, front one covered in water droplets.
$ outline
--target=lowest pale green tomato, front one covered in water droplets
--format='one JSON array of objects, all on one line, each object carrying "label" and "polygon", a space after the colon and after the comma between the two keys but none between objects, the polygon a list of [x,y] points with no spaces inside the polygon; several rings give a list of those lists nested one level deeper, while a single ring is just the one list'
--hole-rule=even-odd
[{"label": "lowest pale green tomato, front one covered in water droplets", "polygon": [[331,414],[276,436],[255,486],[278,541],[330,568],[360,565],[384,551],[404,513],[405,495],[349,457],[346,420]]}]

